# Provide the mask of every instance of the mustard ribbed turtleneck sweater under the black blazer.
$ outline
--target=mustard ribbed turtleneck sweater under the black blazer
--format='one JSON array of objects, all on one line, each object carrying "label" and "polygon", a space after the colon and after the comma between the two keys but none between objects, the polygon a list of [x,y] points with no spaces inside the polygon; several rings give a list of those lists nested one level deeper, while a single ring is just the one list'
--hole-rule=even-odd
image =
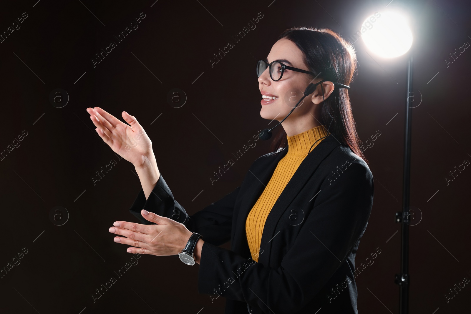
[{"label": "mustard ribbed turtleneck sweater under the black blazer", "polygon": [[[258,201],[253,205],[247,220],[245,221],[245,233],[247,242],[252,253],[252,259],[259,261],[260,242],[263,233],[263,226],[267,220],[270,210],[275,205],[284,187],[298,169],[301,162],[308,155],[311,145],[319,138],[327,135],[327,129],[320,125],[300,134],[286,136],[288,142],[288,152],[278,162],[270,181],[261,193]],[[311,149],[316,148],[323,139],[318,141]]]}]

